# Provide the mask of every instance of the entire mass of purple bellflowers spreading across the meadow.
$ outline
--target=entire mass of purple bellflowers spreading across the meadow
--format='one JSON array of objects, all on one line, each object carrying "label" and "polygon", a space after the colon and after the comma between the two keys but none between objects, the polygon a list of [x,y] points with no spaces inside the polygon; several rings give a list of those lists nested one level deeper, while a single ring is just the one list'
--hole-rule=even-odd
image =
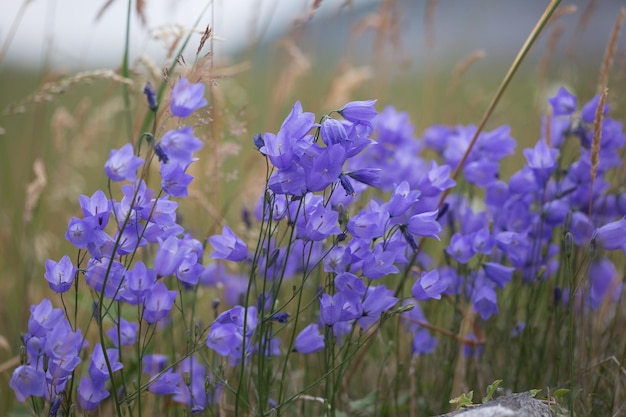
[{"label": "entire mass of purple bellflowers spreading across the meadow", "polygon": [[[156,112],[156,93],[150,86],[144,92]],[[205,106],[203,92],[201,84],[181,78],[171,114],[185,118]],[[499,314],[498,296],[511,282],[555,281],[563,263],[583,252],[591,254],[588,280],[576,294],[571,283],[563,289],[569,301],[576,296],[598,309],[622,291],[602,249],[626,251],[626,199],[607,179],[621,166],[617,155],[626,135],[608,108],[600,109],[598,130],[598,103],[596,97],[578,109],[561,89],[550,99],[548,133],[523,150],[524,166],[505,180],[500,165],[516,147],[508,127],[480,132],[470,149],[474,126],[433,126],[418,139],[407,114],[392,107],[379,114],[375,101],[350,102],[318,122],[298,102],[277,133],[254,138],[269,167],[254,215],[244,220],[258,231],[256,246],[224,225],[208,238],[213,250],[206,263],[203,242],[177,223],[174,200],[187,195],[187,170],[202,147],[193,129],[169,130],[159,140],[150,135],[145,160],[130,144],[111,151],[105,174],[125,182],[121,199],[103,191],[81,196],[82,217],[72,218],[66,233],[78,264],[67,256],[46,262],[54,292],[86,285],[93,298],[89,324],[98,327],[100,340],[77,385],[78,404],[91,410],[113,396],[119,405],[144,390],[171,396],[196,414],[219,401],[232,369],[239,369],[234,379],[241,387],[253,372],[270,372],[267,358],[284,361],[284,376],[291,358],[321,350],[332,353],[325,356],[332,384],[330,375],[342,369],[333,361],[350,357],[389,317],[401,314],[414,355],[431,354],[438,339],[421,303],[454,298],[476,324]],[[601,139],[594,137],[598,131]],[[562,149],[572,141],[581,151],[570,161]],[[424,159],[426,149],[439,162]],[[153,158],[160,166],[158,190],[146,183]],[[462,161],[461,191],[448,194]],[[237,268],[246,275],[232,272]],[[221,297],[205,329],[198,323],[206,317],[195,322],[183,304],[184,290],[199,285],[217,288]],[[562,291],[563,282],[552,285]],[[192,323],[185,324],[180,357],[146,350],[176,311]],[[80,330],[85,323],[71,318],[47,299],[31,308],[26,354],[11,379],[19,401],[32,396],[52,403],[64,390],[71,398],[68,382],[88,350],[87,329]],[[516,335],[524,331],[523,322],[514,326]],[[483,341],[462,336],[475,347],[468,354],[480,354]],[[123,377],[124,346],[140,352],[134,360],[147,375],[138,376],[134,393]],[[211,352],[211,364],[195,353],[201,348]],[[250,361],[258,366],[248,367]],[[259,408],[287,398],[282,385],[272,393],[271,384],[256,389]]]}]

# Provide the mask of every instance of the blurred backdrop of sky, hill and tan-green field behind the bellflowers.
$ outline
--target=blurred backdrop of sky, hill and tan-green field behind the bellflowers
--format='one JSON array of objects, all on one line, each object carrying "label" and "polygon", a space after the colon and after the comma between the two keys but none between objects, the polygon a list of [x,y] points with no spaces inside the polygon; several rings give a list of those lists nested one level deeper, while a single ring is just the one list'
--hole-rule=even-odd
[{"label": "blurred backdrop of sky, hill and tan-green field behind the bellflowers", "polygon": [[[29,306],[50,295],[43,264],[74,253],[63,235],[78,195],[106,186],[109,149],[142,131],[145,82],[163,81],[189,34],[165,74],[170,85],[180,74],[209,86],[198,189],[182,209],[201,238],[253,206],[264,171],[251,138],[276,131],[294,101],[319,115],[376,98],[379,110],[408,112],[417,137],[435,123],[477,124],[548,3],[0,0],[0,415],[14,403],[8,381]],[[519,151],[537,140],[559,86],[589,100],[623,5],[563,1],[487,130],[509,124]],[[624,38],[616,91],[626,85]],[[623,99],[609,101],[624,114]]]}]

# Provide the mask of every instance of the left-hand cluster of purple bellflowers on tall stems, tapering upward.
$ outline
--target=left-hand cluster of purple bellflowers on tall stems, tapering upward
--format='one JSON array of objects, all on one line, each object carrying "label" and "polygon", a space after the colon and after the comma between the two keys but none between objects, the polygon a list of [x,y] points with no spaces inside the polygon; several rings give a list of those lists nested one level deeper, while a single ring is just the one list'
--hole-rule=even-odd
[{"label": "left-hand cluster of purple bellflowers on tall stems, tapering upward", "polygon": [[[156,112],[156,92],[147,85],[145,93],[149,107]],[[207,104],[203,94],[202,84],[191,84],[181,78],[172,90],[172,115],[190,116]],[[108,320],[111,317],[113,326],[102,333],[106,334],[106,339],[93,345],[87,372],[80,378],[77,389],[82,409],[97,408],[102,400],[111,396],[114,374],[124,367],[120,362],[122,346],[146,343],[146,334],[139,334],[140,326],[150,327],[169,319],[179,292],[168,288],[166,278],[175,277],[184,287],[197,284],[204,273],[202,244],[184,233],[176,219],[178,203],[171,200],[187,195],[192,176],[186,171],[195,161],[193,155],[202,147],[202,142],[194,136],[191,127],[182,127],[167,131],[150,145],[148,157],[155,155],[159,159],[160,190],[147,186],[144,181],[146,163],[135,153],[133,145],[112,150],[104,172],[110,181],[125,182],[121,186],[122,198],[118,201],[101,190],[92,196],[80,196],[82,216],[70,219],[65,234],[79,250],[79,264],[74,266],[68,256],[59,262],[46,261],[45,278],[58,294],[72,288],[79,291],[84,278],[92,290],[95,320],[76,321],[76,316],[72,317],[68,310],[53,308],[48,299],[31,307],[29,332],[23,338],[26,354],[10,383],[19,401],[33,396],[58,403],[62,392],[71,389],[70,381],[81,363],[81,352],[86,350],[87,342],[80,326],[86,326],[86,331],[95,321],[102,328],[105,321],[111,322]],[[142,261],[133,262],[142,249],[154,253],[152,267]],[[113,315],[113,305],[136,306],[136,321],[119,316],[118,307],[118,315]],[[140,341],[140,338],[144,339]],[[184,366],[192,365],[187,362]],[[181,364],[181,369],[184,366]],[[168,378],[171,372],[170,367],[158,377],[151,374],[154,379],[150,390],[167,391],[163,385],[174,381]],[[194,386],[199,384],[204,391],[207,376],[200,371],[195,372],[195,376],[201,380],[195,379],[191,385],[181,378],[175,380],[174,400],[198,411],[204,409],[208,401],[200,401]],[[194,395],[189,393],[190,389]],[[65,395],[71,398],[72,394]],[[56,409],[58,411],[58,405]]]}]

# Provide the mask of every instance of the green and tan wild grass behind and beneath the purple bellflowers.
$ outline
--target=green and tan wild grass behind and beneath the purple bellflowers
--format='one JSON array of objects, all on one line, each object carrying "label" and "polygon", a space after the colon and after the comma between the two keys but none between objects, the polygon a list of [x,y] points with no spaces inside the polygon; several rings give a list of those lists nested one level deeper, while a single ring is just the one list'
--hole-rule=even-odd
[{"label": "green and tan wild grass behind and beneath the purple bellflowers", "polygon": [[[144,2],[137,2],[135,10],[131,3],[128,2],[129,22],[131,13],[142,15],[144,10]],[[559,21],[579,13],[579,27],[583,28],[593,13],[593,2],[582,12],[571,6],[557,9],[559,2],[550,2],[506,74],[474,71],[481,62],[490,59],[488,52],[482,51],[467,51],[465,57],[445,70],[425,74],[403,70],[402,64],[407,58],[402,50],[407,45],[402,45],[402,19],[394,1],[381,1],[376,12],[354,25],[352,40],[363,33],[374,35],[370,63],[351,56],[349,50],[339,62],[322,60],[307,50],[305,42],[320,3],[312,2],[294,22],[293,30],[275,45],[257,46],[259,49],[233,62],[214,59],[211,43],[215,28],[208,25],[200,33],[181,31],[170,38],[169,59],[159,65],[146,58],[132,62],[127,50],[116,70],[24,77],[19,71],[3,69],[0,82],[6,99],[0,99],[3,111],[0,118],[3,132],[0,136],[3,194],[0,203],[1,415],[28,415],[27,410],[43,415],[49,410],[48,403],[18,403],[8,385],[13,370],[23,361],[20,346],[22,334],[28,328],[29,307],[48,297],[57,307],[63,301],[76,309],[78,317],[90,317],[94,296],[81,284],[75,300],[55,298],[43,278],[45,261],[76,253],[64,238],[67,222],[80,214],[76,204],[80,194],[91,195],[96,189],[107,187],[102,165],[109,150],[120,148],[126,142],[137,145],[143,132],[151,131],[158,138],[177,126],[179,122],[168,112],[167,100],[171,86],[180,76],[207,86],[209,107],[201,109],[191,119],[196,135],[203,139],[204,149],[198,154],[200,161],[190,168],[195,180],[189,198],[180,201],[177,220],[204,245],[207,245],[207,238],[219,234],[224,225],[230,225],[252,252],[257,250],[255,257],[259,259],[269,258],[270,251],[262,249],[264,244],[269,247],[270,235],[280,235],[291,242],[292,225],[260,222],[249,227],[242,216],[244,211],[254,210],[270,174],[266,172],[267,160],[253,146],[252,137],[257,132],[278,131],[296,100],[302,101],[305,111],[319,116],[351,100],[377,98],[379,111],[393,105],[399,111],[408,112],[416,137],[422,137],[422,132],[431,125],[476,124],[470,148],[482,131],[509,124],[518,146],[516,155],[507,159],[500,171],[501,178],[508,179],[524,164],[522,149],[534,146],[542,136],[550,144],[557,134],[552,131],[551,123],[540,121],[542,115],[547,120],[556,117],[545,110],[548,108],[545,88],[554,81],[567,81],[579,93],[579,104],[591,99],[595,92],[600,94],[590,149],[590,176],[592,184],[596,183],[597,171],[603,164],[599,155],[604,104],[610,105],[612,118],[624,120],[626,100],[620,86],[626,80],[626,61],[620,58],[624,51],[619,41],[624,9],[616,12],[617,22],[611,33],[607,28],[609,40],[602,62],[581,68],[571,79],[564,80],[564,64],[552,59],[562,36]],[[207,8],[210,7],[218,6],[208,3]],[[427,45],[436,43],[437,27],[432,23],[436,12],[437,2],[428,1],[424,10]],[[533,72],[534,68],[523,71],[527,54],[533,53],[531,46],[540,36],[548,36],[548,30],[552,30],[549,45],[539,60],[538,71]],[[346,40],[346,45],[350,45],[350,41]],[[10,37],[6,42],[10,42]],[[197,45],[195,56],[180,56],[186,44]],[[268,55],[267,59],[259,59],[260,48],[265,48],[263,54]],[[3,51],[5,49],[6,46]],[[207,49],[208,53],[204,52]],[[516,74],[518,69],[520,74]],[[36,78],[39,79],[34,82]],[[146,80],[159,86],[161,106],[154,114],[145,106],[141,94]],[[538,101],[542,103],[538,105]],[[557,178],[565,175],[577,161],[580,148],[571,141],[561,148]],[[620,152],[623,161],[623,150]],[[433,150],[426,155],[441,159]],[[464,154],[451,175],[458,180],[457,187],[439,196],[439,206],[444,201],[454,201],[446,200],[448,192],[465,193],[469,201],[484,205],[485,193],[463,179],[462,168],[468,155],[469,152]],[[153,164],[156,166],[156,160]],[[623,192],[624,174],[622,166],[606,178],[608,191],[615,196]],[[146,179],[154,181],[155,178],[158,178],[158,171],[152,169]],[[119,190],[112,193],[120,197]],[[373,190],[365,195],[383,198],[384,193]],[[590,200],[588,204],[589,217],[594,203]],[[460,209],[454,207],[453,202],[451,205],[452,211]],[[364,203],[359,208],[362,206]],[[453,225],[453,218],[448,221],[453,230],[458,226]],[[591,232],[593,229],[589,234]],[[462,264],[452,259],[445,251],[450,234],[442,236],[441,243],[422,240],[421,252],[432,257],[434,265],[449,265],[457,273],[470,276],[473,270],[480,268],[481,262],[475,258],[473,262]],[[449,400],[464,392],[473,390],[475,398],[485,395],[488,385],[496,379],[504,381],[499,390],[502,394],[542,389],[543,397],[553,399],[556,396],[564,408],[579,416],[626,415],[622,405],[626,402],[624,291],[612,287],[615,297],[605,297],[593,311],[585,306],[589,266],[592,257],[599,254],[583,246],[571,248],[567,246],[568,239],[565,229],[554,233],[553,243],[558,249],[554,259],[559,262],[558,270],[546,272],[544,265],[537,268],[533,280],[516,274],[498,291],[500,311],[488,320],[480,319],[472,304],[460,293],[421,303],[428,322],[404,319],[405,312],[398,310],[401,304],[398,303],[373,327],[359,331],[354,326],[349,344],[337,343],[322,353],[298,355],[289,348],[293,347],[296,331],[301,330],[303,323],[318,320],[317,287],[323,285],[327,290],[332,287],[327,274],[311,267],[303,273],[301,283],[292,287],[291,282],[285,281],[276,293],[281,300],[298,303],[297,308],[293,304],[285,307],[292,314],[291,325],[261,326],[267,334],[277,333],[283,339],[282,357],[287,359],[254,359],[249,368],[229,364],[204,346],[212,321],[241,300],[236,297],[229,300],[229,288],[223,283],[184,292],[180,284],[175,284],[176,280],[170,280],[170,288],[181,290],[183,311],[178,319],[173,319],[173,326],[155,330],[155,334],[162,333],[164,337],[155,338],[150,348],[154,352],[168,353],[171,360],[181,361],[184,355],[198,352],[204,364],[211,367],[215,381],[222,383],[222,391],[203,415],[433,415],[448,411]],[[206,247],[204,259],[207,265],[211,264],[209,248]],[[542,251],[551,249],[538,246],[533,250],[541,256],[545,255]],[[152,255],[154,253],[148,253],[146,259]],[[607,259],[614,262],[617,281],[623,283],[620,272],[626,265],[623,252],[611,251]],[[413,259],[403,271],[405,278],[400,281],[402,274],[383,278],[374,285],[384,283],[402,299],[408,298],[418,276],[415,274],[422,272],[421,262]],[[246,274],[244,269],[228,264],[224,274]],[[252,282],[254,269],[250,274]],[[407,277],[411,278],[410,282]],[[250,292],[257,288],[246,282],[241,285],[248,292],[248,305],[256,305],[256,298],[250,296]],[[563,295],[570,288],[580,288],[582,295],[571,290]],[[561,297],[569,297],[569,301],[563,302]],[[216,305],[215,300],[219,300],[219,304]],[[128,313],[124,311],[124,314]],[[196,319],[204,327],[194,327]],[[438,338],[433,353],[413,354],[412,335],[406,329],[405,320],[421,325]],[[523,323],[524,327],[517,328],[518,323]],[[95,324],[85,332],[91,343],[101,342]],[[333,339],[328,329],[326,332],[328,343]],[[83,356],[88,362],[87,351]],[[129,360],[124,370],[126,377],[114,378],[112,382],[126,384],[124,378],[133,377],[137,378],[135,390],[145,388],[148,378],[133,370],[133,367],[140,368],[141,363],[142,359]],[[86,366],[77,372],[74,388],[80,375],[86,374]],[[89,415],[189,415],[191,412],[167,396],[153,398],[135,393],[132,401],[124,402],[118,392],[112,394],[117,398],[109,398]],[[279,401],[277,408],[268,406],[270,400]],[[70,410],[69,404],[63,407]],[[71,412],[83,415],[77,408]]]}]

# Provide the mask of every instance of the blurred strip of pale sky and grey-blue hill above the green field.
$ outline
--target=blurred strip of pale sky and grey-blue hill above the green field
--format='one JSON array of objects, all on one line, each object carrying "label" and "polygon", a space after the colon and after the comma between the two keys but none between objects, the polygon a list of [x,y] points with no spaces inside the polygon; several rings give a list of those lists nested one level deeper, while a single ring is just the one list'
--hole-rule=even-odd
[{"label": "blurred strip of pale sky and grey-blue hill above the green field", "polygon": [[[3,65],[40,66],[46,62],[57,70],[110,68],[119,66],[123,53],[127,0],[108,0],[110,7],[97,18],[107,0],[0,0],[0,47],[4,48],[11,26],[19,21]],[[162,65],[163,44],[154,40],[163,25],[194,26],[201,16],[199,31],[211,24],[221,38],[215,52],[228,55],[252,40],[271,40],[292,27],[294,19],[306,15],[314,0],[145,0],[147,25],[136,13],[131,22],[131,61],[149,56]],[[307,34],[323,50],[345,53],[346,39],[357,22],[372,13],[380,0],[323,0],[309,22]],[[436,58],[451,62],[476,49],[485,50],[488,62],[507,65],[523,44],[549,0],[439,0],[432,20],[434,47],[426,45],[424,13],[426,0],[396,0],[402,12],[399,24],[406,53],[421,65]],[[133,5],[136,0],[132,1]],[[349,3],[349,7],[341,8]],[[23,4],[21,20],[20,10]],[[576,46],[582,64],[595,64],[602,56],[611,28],[624,0],[564,0],[577,12],[560,19],[564,29],[560,51]],[[586,26],[580,17],[593,5]],[[206,10],[205,10],[206,9]],[[622,31],[626,32],[626,30]],[[200,35],[185,54],[193,57]],[[372,31],[357,45],[367,54],[372,48]],[[534,48],[541,55],[548,34]],[[621,39],[625,38],[622,33]],[[368,40],[369,39],[369,40]],[[542,46],[543,44],[543,46]],[[623,41],[621,45],[623,49]],[[208,50],[205,48],[205,50]],[[558,57],[556,57],[558,59]],[[420,64],[421,63],[421,64]]]}]

